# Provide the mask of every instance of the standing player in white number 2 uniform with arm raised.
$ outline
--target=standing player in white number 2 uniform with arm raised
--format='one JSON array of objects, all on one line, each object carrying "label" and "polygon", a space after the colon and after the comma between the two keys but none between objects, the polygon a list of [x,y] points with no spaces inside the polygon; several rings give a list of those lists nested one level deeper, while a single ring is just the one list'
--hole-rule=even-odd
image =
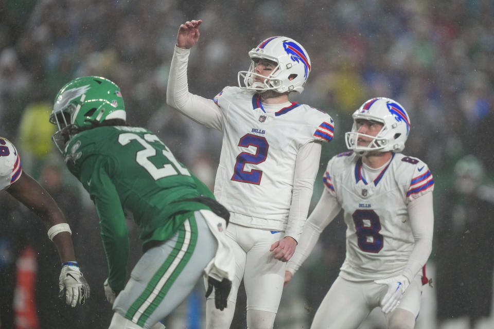
[{"label": "standing player in white number 2 uniform with arm raised", "polygon": [[289,101],[302,93],[311,69],[305,49],[273,36],[249,51],[251,66],[213,100],[188,92],[187,61],[202,21],[182,24],[177,35],[167,103],[192,120],[223,133],[215,196],[231,212],[227,235],[236,276],[226,309],[206,301],[207,328],[229,328],[244,280],[247,324],[271,328],[286,262],[295,251],[309,209],[322,142],[333,137],[331,117]]}]

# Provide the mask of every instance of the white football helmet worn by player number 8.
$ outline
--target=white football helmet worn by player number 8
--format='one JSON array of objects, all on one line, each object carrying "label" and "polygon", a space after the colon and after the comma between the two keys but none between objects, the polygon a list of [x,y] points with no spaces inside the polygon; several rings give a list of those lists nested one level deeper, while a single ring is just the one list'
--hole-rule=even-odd
[{"label": "white football helmet worn by player number 8", "polygon": [[[369,99],[352,114],[352,118],[354,124],[351,132],[345,133],[348,150],[364,155],[369,151],[399,153],[405,148],[405,141],[410,133],[410,118],[397,101],[385,97]],[[384,125],[377,136],[369,136],[358,132],[359,119],[376,121]],[[362,136],[372,138],[372,141],[367,146],[358,145],[357,141]]]}]

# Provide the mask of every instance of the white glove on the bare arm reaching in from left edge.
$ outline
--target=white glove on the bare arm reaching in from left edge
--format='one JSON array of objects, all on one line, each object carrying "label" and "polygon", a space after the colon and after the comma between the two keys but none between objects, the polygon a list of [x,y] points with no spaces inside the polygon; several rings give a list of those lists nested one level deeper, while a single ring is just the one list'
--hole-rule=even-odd
[{"label": "white glove on the bare arm reaching in from left edge", "polygon": [[91,294],[86,278],[82,276],[81,269],[77,262],[67,262],[62,264],[58,287],[60,289],[58,297],[72,307],[77,303],[83,305]]}]

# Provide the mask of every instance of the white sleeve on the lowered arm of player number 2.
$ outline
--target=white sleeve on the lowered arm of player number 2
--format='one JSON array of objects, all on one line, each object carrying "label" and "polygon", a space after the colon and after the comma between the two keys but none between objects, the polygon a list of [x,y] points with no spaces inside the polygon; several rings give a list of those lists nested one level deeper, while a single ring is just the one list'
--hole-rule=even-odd
[{"label": "white sleeve on the lowered arm of player number 2", "polygon": [[290,213],[285,230],[285,236],[291,236],[296,241],[302,234],[307,220],[314,180],[319,170],[321,148],[320,142],[308,142],[297,154]]}]

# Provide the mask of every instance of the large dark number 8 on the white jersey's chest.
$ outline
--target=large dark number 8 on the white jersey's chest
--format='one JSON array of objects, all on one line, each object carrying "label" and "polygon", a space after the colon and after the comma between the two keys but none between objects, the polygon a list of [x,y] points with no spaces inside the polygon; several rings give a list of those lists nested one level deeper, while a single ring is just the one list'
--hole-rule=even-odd
[{"label": "large dark number 8 on the white jersey's chest", "polygon": [[374,210],[357,209],[352,215],[359,248],[365,252],[378,253],[383,246],[383,236],[379,234],[381,222]]}]

